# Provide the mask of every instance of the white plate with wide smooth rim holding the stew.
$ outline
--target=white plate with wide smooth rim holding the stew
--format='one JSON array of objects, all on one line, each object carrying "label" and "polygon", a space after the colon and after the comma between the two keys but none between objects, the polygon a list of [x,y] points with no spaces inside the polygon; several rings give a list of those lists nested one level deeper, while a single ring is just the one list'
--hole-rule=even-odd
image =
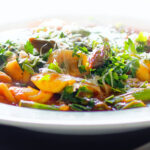
[{"label": "white plate with wide smooth rim holding the stew", "polygon": [[[71,20],[70,17],[62,17]],[[92,19],[93,22],[115,23],[123,22],[126,18],[108,16],[97,16]],[[101,18],[101,19],[100,19]],[[102,19],[103,18],[103,19]],[[85,23],[88,17],[74,17],[77,22]],[[88,21],[87,21],[88,20]],[[148,29],[148,21],[140,22],[128,18],[129,25]],[[29,21],[22,23],[13,23],[0,25],[0,29],[7,30],[14,27],[27,27]],[[1,36],[3,34],[0,34]],[[17,36],[15,34],[15,36]],[[59,133],[59,134],[106,134],[118,133],[129,130],[142,129],[150,127],[150,107],[136,108],[122,111],[106,112],[58,112],[49,110],[36,110],[30,108],[20,108],[7,104],[0,104],[0,124],[12,125],[16,127],[36,130],[40,132]]]}]

